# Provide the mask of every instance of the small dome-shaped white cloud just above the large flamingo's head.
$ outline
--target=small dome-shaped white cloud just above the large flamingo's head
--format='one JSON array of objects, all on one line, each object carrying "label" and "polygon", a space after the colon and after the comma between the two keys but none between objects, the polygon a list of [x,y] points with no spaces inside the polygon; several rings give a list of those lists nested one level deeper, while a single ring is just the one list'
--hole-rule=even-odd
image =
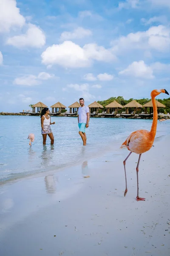
[{"label": "small dome-shaped white cloud just above the large flamingo's head", "polygon": [[119,72],[119,75],[132,76],[142,79],[153,79],[153,70],[147,66],[144,61],[134,61],[125,70]]}]

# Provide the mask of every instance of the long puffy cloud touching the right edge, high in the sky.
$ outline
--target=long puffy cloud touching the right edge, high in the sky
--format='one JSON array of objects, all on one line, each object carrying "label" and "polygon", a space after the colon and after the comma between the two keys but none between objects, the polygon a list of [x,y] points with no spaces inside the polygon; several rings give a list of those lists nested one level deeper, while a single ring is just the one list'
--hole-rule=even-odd
[{"label": "long puffy cloud touching the right edge, high in the sky", "polygon": [[170,50],[170,28],[166,26],[152,26],[147,31],[130,33],[112,42],[115,54],[124,54],[133,49],[154,49],[159,52]]}]

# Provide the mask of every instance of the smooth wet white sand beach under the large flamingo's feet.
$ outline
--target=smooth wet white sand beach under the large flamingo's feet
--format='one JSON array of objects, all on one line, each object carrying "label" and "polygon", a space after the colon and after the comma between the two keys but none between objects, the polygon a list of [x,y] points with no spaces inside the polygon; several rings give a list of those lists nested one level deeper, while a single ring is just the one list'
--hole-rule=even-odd
[{"label": "smooth wet white sand beach under the large flamingo's feet", "polygon": [[127,160],[124,197],[126,149],[1,184],[0,255],[170,256],[169,145],[170,136],[160,138],[142,155],[146,201],[136,201],[136,154]]}]

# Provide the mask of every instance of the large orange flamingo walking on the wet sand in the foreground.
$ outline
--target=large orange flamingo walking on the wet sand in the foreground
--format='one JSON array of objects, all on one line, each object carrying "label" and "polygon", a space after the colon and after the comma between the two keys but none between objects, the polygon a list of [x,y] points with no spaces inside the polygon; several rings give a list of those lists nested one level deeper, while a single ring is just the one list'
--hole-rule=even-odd
[{"label": "large orange flamingo walking on the wet sand in the foreground", "polygon": [[126,159],[123,161],[124,169],[125,169],[125,181],[126,181],[126,189],[125,189],[124,196],[127,193],[127,179],[126,179],[126,168],[125,168],[126,160],[130,156],[130,154],[132,154],[132,152],[139,154],[139,160],[138,160],[138,163],[136,166],[136,174],[137,174],[136,200],[137,201],[145,201],[145,198],[139,197],[139,181],[138,181],[139,162],[140,162],[142,153],[150,150],[150,148],[153,145],[153,141],[154,141],[154,138],[156,135],[157,121],[158,121],[158,111],[157,111],[157,107],[156,107],[155,97],[158,96],[160,93],[166,93],[169,95],[169,93],[165,89],[153,90],[150,93],[151,99],[152,99],[152,104],[153,104],[153,122],[152,122],[151,130],[150,131],[147,131],[147,130],[134,131],[127,137],[127,139],[121,146],[121,148],[126,147],[130,151],[130,153],[128,154]]}]

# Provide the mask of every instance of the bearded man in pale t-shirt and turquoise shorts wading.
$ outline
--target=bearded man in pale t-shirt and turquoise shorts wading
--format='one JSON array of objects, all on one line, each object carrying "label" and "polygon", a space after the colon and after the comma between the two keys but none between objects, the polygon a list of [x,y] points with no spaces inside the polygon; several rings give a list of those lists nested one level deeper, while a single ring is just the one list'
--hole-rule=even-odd
[{"label": "bearded man in pale t-shirt and turquoise shorts wading", "polygon": [[85,128],[88,128],[88,122],[90,119],[90,112],[89,107],[85,106],[85,102],[83,98],[79,99],[79,104],[81,107],[79,107],[78,110],[78,123],[79,123],[79,135],[82,137],[83,146],[86,145],[86,134],[85,134]]}]

